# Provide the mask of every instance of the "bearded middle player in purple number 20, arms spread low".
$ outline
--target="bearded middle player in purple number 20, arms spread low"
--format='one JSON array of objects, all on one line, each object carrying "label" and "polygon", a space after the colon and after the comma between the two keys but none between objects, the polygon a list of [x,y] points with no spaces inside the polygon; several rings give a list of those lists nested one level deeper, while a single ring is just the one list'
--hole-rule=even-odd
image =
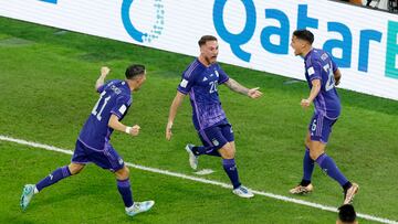
[{"label": "bearded middle player in purple number 20, arms spread low", "polygon": [[219,53],[218,41],[212,35],[203,35],[199,40],[200,55],[182,73],[177,95],[170,106],[166,139],[171,138],[171,128],[178,107],[184,97],[189,94],[192,106],[192,120],[203,146],[188,143],[186,150],[192,169],[197,169],[198,157],[208,154],[222,158],[222,166],[233,185],[233,193],[241,198],[252,198],[254,194],[243,186],[238,177],[234,161],[235,145],[232,127],[227,120],[218,95],[218,85],[226,84],[231,90],[250,98],[259,98],[259,88],[247,88],[228,77],[217,63]]}]

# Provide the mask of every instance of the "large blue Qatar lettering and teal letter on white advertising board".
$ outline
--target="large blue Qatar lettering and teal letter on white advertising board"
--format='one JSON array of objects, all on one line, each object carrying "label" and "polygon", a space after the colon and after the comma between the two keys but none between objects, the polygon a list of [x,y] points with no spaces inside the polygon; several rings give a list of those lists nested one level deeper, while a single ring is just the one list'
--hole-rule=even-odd
[{"label": "large blue Qatar lettering and teal letter on white advertising board", "polygon": [[[398,79],[398,22],[387,21],[388,28],[386,31],[378,29],[364,29],[359,31],[359,46],[353,51],[353,31],[347,24],[338,21],[324,21],[320,18],[310,17],[308,4],[298,4],[295,12],[297,23],[292,24],[289,14],[282,9],[260,9],[264,14],[262,18],[256,18],[256,6],[253,0],[241,0],[245,12],[245,23],[240,32],[231,32],[227,29],[224,21],[224,11],[228,0],[214,0],[213,4],[213,23],[218,35],[229,43],[232,53],[244,62],[250,62],[252,52],[244,50],[243,45],[252,41],[255,29],[262,29],[260,33],[260,44],[262,49],[269,53],[276,55],[289,54],[289,43],[292,30],[295,29],[320,29],[320,23],[326,23],[327,32],[338,33],[342,40],[331,39],[323,43],[323,50],[331,52],[335,62],[339,67],[354,67],[359,72],[369,73],[370,44],[379,44],[386,47],[385,57],[385,76]],[[291,12],[290,12],[291,13]],[[244,14],[242,12],[242,14]],[[258,20],[274,20],[280,23],[277,26],[266,25],[261,28],[258,25]],[[294,26],[296,25],[296,26]],[[387,38],[384,38],[387,36]],[[272,36],[279,36],[279,43],[271,41]],[[387,39],[387,44],[385,41]],[[339,50],[341,56],[333,55],[333,50]],[[355,52],[355,53],[354,53]],[[358,64],[354,64],[353,57],[357,57]],[[371,74],[371,72],[370,72]]]}]

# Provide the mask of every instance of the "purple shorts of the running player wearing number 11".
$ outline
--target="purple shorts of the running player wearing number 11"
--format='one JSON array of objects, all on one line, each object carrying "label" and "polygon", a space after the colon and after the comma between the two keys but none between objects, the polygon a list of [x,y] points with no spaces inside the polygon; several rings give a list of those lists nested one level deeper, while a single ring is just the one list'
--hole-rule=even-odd
[{"label": "purple shorts of the running player wearing number 11", "polygon": [[80,140],[76,141],[76,148],[71,161],[73,163],[94,162],[96,166],[113,172],[124,167],[123,159],[117,154],[111,143],[105,143],[104,150],[96,150]]}]

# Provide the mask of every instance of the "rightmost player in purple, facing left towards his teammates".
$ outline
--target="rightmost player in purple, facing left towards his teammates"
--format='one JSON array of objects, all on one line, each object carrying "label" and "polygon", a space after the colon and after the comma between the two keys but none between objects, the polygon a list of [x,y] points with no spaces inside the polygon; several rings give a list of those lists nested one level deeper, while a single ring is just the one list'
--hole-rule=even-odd
[{"label": "rightmost player in purple, facing left towards his teammates", "polygon": [[315,111],[311,118],[305,138],[303,160],[303,179],[292,194],[302,194],[313,191],[311,177],[316,162],[327,175],[337,181],[344,189],[344,204],[352,202],[358,191],[358,184],[349,182],[338,170],[336,163],[325,153],[325,147],[332,132],[332,126],[341,115],[341,102],[335,85],[338,85],[342,74],[331,55],[312,46],[314,34],[307,30],[293,32],[291,46],[295,55],[304,57],[305,77],[310,86],[310,96],[301,100],[301,106],[307,108],[312,103]]}]

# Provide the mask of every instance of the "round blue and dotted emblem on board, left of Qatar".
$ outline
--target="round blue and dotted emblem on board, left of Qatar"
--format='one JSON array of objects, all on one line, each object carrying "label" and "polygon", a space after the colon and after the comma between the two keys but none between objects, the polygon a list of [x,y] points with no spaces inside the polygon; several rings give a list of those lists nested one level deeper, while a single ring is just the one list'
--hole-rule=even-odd
[{"label": "round blue and dotted emblem on board, left of Qatar", "polygon": [[[155,22],[147,31],[140,31],[135,24],[138,24],[143,21],[132,21],[130,11],[135,7],[134,0],[123,0],[122,3],[122,21],[123,25],[126,29],[127,33],[136,41],[140,43],[150,43],[151,41],[158,39],[161,35],[161,31],[165,25],[165,9],[161,0],[147,1],[146,3],[151,3],[154,7]],[[139,8],[134,8],[134,11],[138,12]]]}]

